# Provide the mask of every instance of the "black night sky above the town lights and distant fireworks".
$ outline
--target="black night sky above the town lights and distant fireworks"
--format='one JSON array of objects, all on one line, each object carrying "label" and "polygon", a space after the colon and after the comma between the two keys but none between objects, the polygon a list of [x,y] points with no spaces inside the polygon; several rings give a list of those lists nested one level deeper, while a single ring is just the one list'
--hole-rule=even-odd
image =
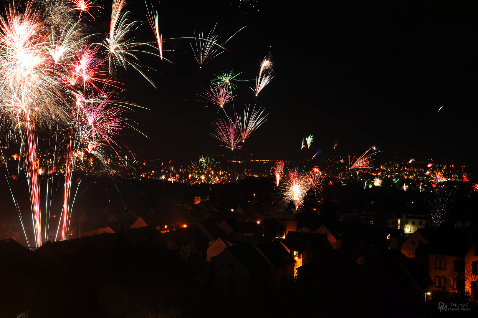
[{"label": "black night sky above the town lights and distant fireworks", "polygon": [[[244,143],[241,159],[310,158],[312,150],[300,151],[300,145],[304,135],[313,134],[314,147],[325,154],[361,154],[374,144],[382,159],[474,163],[478,12],[473,1],[258,0],[247,10],[243,3],[161,1],[164,50],[180,51],[164,52],[174,64],[142,58],[160,72],[147,72],[159,90],[133,71],[119,77],[128,88],[124,96],[151,109],[130,114],[150,140],[124,137],[138,153],[149,147],[140,159],[231,156],[208,134],[221,114],[203,108],[196,94],[226,68],[254,79],[270,52],[275,77],[259,97],[250,89],[254,81],[239,82],[234,92],[236,110],[257,103],[269,113]],[[143,2],[127,7],[135,19],[145,20]],[[97,16],[97,23],[107,20]],[[216,23],[222,39],[246,28],[226,45],[229,52],[201,69],[189,40],[167,40],[208,32]],[[147,23],[138,33],[141,40],[153,39]]]}]

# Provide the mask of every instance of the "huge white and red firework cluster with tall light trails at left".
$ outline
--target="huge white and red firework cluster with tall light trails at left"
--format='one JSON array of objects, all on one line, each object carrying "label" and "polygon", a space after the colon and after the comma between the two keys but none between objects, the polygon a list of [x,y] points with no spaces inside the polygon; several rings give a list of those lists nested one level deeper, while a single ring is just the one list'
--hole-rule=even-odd
[{"label": "huge white and red firework cluster with tall light trails at left", "polygon": [[[39,165],[38,133],[56,135],[55,141],[59,135],[66,136],[64,153],[57,153],[55,148],[46,169],[47,181],[52,184],[54,172],[64,172],[64,202],[55,240],[66,240],[75,201],[70,192],[76,163],[95,157],[108,164],[106,151],[116,153],[114,137],[127,125],[126,104],[111,100],[118,84],[113,80],[116,71],[133,68],[149,80],[137,54],[163,59],[158,13],[151,11],[149,21],[159,55],[139,50],[140,46],[155,46],[134,40],[133,33],[141,22],[130,21],[125,4],[126,0],[113,0],[109,33],[104,37],[88,34],[89,28],[81,20],[82,14],[91,15],[92,8],[101,8],[87,0],[30,1],[22,6],[11,2],[0,17],[2,132],[21,144],[18,156],[25,162],[30,189],[34,247],[46,241],[42,232],[50,231],[48,193],[51,197],[53,189],[47,185],[43,219],[38,175],[45,170]],[[90,39],[95,37],[99,41],[93,43]],[[65,158],[64,166],[58,167],[57,157]],[[20,164],[18,170],[20,173]],[[18,212],[24,228],[22,213]]]}]

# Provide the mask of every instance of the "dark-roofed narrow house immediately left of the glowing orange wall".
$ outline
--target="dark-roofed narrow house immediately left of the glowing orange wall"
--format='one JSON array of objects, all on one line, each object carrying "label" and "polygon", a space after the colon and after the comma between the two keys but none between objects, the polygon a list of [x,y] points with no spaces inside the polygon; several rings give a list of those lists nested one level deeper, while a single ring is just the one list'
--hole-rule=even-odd
[{"label": "dark-roofed narrow house immediately left of the glowing orange wall", "polygon": [[295,259],[279,240],[256,246],[256,250],[272,266],[272,287],[279,287],[283,282],[293,282]]}]

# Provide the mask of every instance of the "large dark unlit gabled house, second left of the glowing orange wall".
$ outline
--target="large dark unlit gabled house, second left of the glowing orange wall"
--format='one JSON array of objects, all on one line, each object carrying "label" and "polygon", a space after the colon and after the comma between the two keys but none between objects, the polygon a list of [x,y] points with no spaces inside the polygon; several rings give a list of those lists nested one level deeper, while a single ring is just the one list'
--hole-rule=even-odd
[{"label": "large dark unlit gabled house, second left of the glowing orange wall", "polygon": [[245,299],[269,285],[271,265],[249,242],[225,248],[211,262],[212,284],[224,296]]}]

